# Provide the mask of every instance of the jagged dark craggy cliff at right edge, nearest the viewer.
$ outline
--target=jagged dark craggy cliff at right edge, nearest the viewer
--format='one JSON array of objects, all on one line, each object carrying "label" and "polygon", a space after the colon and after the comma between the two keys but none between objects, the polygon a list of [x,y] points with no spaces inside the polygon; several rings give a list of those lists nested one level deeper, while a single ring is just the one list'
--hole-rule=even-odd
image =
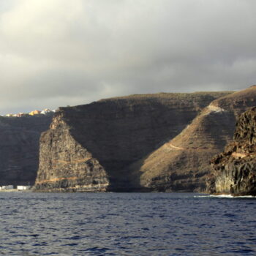
[{"label": "jagged dark craggy cliff at right edge, nearest the viewer", "polygon": [[233,141],[211,160],[208,192],[256,195],[256,108],[241,115]]}]

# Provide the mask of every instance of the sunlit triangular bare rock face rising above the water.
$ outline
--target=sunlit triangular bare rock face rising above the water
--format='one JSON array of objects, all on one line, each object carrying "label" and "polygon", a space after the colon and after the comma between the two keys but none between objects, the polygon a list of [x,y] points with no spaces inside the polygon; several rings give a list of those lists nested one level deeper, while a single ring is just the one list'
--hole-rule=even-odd
[{"label": "sunlit triangular bare rock face rising above the water", "polygon": [[[40,149],[48,154],[40,155],[37,187],[59,192],[105,191],[109,181],[104,168],[72,137],[67,125],[62,124],[61,129],[56,129],[55,126],[59,126],[57,119],[51,124],[50,132],[45,132],[41,138]],[[49,154],[54,158],[49,159]],[[45,167],[50,173],[45,172]]]}]

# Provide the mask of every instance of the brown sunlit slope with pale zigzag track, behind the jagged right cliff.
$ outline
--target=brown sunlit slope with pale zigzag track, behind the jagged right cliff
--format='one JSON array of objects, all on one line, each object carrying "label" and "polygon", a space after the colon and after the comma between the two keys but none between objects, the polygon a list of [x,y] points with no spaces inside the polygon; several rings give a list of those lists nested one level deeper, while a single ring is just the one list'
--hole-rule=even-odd
[{"label": "brown sunlit slope with pale zigzag track, behind the jagged right cliff", "polygon": [[204,192],[209,160],[233,138],[238,116],[256,106],[256,86],[211,102],[176,138],[140,161],[140,184],[157,191]]}]

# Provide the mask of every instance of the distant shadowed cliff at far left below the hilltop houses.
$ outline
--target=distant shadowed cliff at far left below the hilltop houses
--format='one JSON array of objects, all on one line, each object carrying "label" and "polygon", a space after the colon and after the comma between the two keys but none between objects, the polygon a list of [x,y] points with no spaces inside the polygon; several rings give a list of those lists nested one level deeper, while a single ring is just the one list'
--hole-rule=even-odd
[{"label": "distant shadowed cliff at far left below the hilltop houses", "polygon": [[39,165],[39,138],[53,114],[0,116],[0,186],[34,184]]}]

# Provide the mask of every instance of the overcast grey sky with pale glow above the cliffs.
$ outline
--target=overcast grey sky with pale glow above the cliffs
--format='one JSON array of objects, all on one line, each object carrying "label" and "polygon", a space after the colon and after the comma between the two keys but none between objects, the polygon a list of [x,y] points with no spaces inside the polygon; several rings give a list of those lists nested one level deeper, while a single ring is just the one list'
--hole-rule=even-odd
[{"label": "overcast grey sky with pale glow above the cliffs", "polygon": [[0,114],[256,84],[255,0],[0,0]]}]

